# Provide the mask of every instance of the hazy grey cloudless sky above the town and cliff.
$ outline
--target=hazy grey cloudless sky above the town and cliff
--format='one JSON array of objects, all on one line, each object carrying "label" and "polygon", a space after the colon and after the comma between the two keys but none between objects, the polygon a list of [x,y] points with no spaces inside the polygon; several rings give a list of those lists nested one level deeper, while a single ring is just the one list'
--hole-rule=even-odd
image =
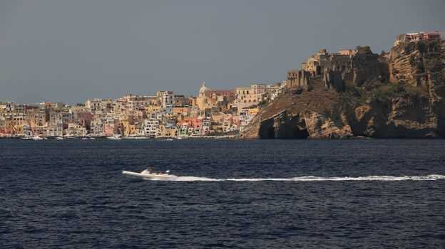
[{"label": "hazy grey cloudless sky above the town and cliff", "polygon": [[[445,1],[0,1],[0,101],[275,83],[319,48],[444,31]],[[27,96],[27,97],[26,97]]]}]

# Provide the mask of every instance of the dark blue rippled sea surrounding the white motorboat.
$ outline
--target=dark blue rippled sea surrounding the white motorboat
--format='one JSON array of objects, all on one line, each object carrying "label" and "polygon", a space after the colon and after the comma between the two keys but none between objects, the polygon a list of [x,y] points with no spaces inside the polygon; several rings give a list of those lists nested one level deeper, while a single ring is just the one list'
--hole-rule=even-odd
[{"label": "dark blue rippled sea surrounding the white motorboat", "polygon": [[0,248],[444,248],[445,140],[0,140]]}]

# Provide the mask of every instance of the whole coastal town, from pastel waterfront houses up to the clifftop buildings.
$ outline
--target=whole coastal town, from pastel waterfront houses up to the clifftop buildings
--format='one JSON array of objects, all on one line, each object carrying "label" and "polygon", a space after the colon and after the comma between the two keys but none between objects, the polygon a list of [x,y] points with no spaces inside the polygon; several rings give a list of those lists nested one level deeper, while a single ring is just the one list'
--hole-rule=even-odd
[{"label": "whole coastal town, from pastel waterfront houses up to the clifftop buildings", "polygon": [[[394,46],[418,41],[444,41],[443,32],[406,33]],[[253,83],[235,89],[197,84],[197,95],[164,90],[153,95],[128,94],[116,100],[96,98],[77,105],[0,102],[0,137],[22,139],[231,137],[242,132],[257,112],[286,88],[321,83],[344,91],[345,83],[362,86],[381,75],[379,55],[368,46],[328,53],[320,49],[287,71],[279,83]],[[394,78],[395,81],[399,78]],[[200,88],[199,88],[200,87]],[[199,90],[198,90],[199,88]]]}]

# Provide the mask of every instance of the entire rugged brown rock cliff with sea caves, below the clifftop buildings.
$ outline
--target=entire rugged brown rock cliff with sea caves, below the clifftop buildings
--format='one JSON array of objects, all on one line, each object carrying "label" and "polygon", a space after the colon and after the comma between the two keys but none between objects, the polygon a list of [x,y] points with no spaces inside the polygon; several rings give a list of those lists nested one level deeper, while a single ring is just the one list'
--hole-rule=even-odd
[{"label": "entire rugged brown rock cliff with sea caves, below the clifftop buildings", "polygon": [[286,90],[239,137],[445,137],[445,43],[425,46],[393,48],[383,64],[389,83],[371,90],[336,92],[319,84]]}]

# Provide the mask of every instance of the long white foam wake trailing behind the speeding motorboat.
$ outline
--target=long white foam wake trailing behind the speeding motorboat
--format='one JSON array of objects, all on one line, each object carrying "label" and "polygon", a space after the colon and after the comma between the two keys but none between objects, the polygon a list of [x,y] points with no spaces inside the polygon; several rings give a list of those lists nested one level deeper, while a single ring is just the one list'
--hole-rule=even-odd
[{"label": "long white foam wake trailing behind the speeding motorboat", "polygon": [[445,180],[445,176],[440,174],[430,174],[428,176],[354,176],[354,177],[299,176],[293,178],[240,178],[240,179],[212,179],[207,177],[196,177],[196,176],[178,176],[178,178],[170,181],[435,181],[435,180]]}]

